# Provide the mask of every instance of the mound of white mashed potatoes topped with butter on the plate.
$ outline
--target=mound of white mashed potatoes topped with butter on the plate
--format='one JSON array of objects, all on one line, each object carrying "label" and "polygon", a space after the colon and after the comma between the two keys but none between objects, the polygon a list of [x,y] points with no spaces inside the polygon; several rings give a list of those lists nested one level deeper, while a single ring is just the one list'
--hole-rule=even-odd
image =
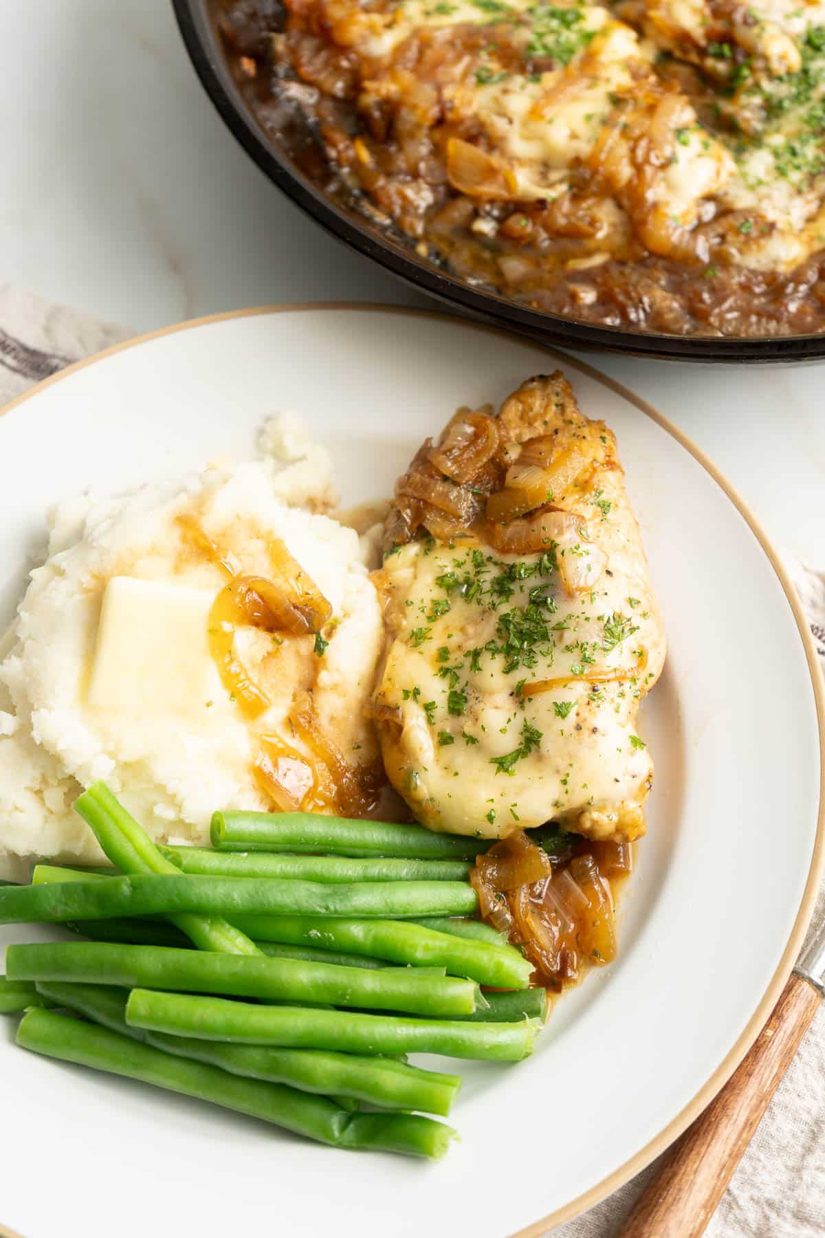
[{"label": "mound of white mashed potatoes topped with butter on the plate", "polygon": [[[366,551],[324,514],[334,491],[322,448],[277,418],[262,449],[254,463],[51,513],[46,561],[0,640],[0,875],[15,858],[98,859],[72,812],[96,779],[156,839],[203,843],[214,808],[272,807],[255,766],[268,737],[301,770],[296,701],[356,775],[375,761],[362,706],[381,614]],[[272,576],[273,540],[331,615],[318,638],[234,629],[236,670],[265,702],[250,717],[207,629],[233,573]]]}]

